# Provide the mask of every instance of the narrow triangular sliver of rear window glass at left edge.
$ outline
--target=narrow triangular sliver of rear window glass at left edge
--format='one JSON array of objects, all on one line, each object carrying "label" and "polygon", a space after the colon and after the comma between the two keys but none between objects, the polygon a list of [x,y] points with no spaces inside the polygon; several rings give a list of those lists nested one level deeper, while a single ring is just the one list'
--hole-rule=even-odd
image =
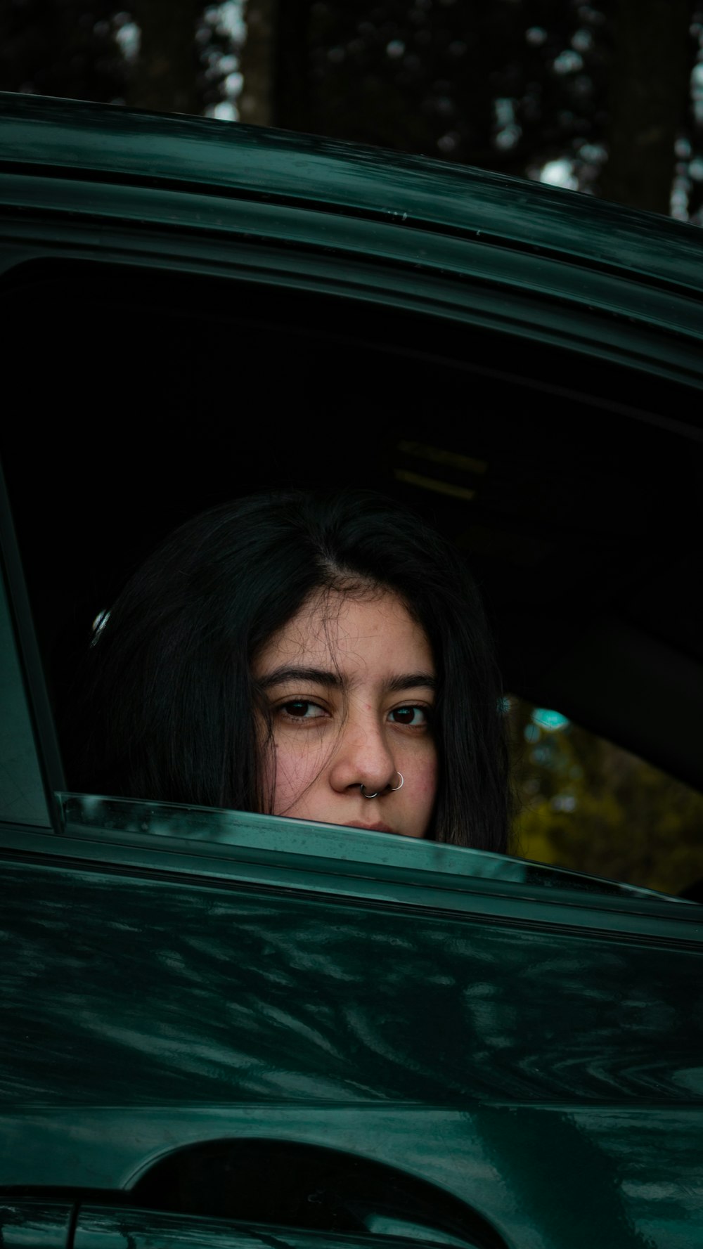
[{"label": "narrow triangular sliver of rear window glass at left edge", "polygon": [[7,596],[0,577],[0,819],[50,827],[22,687]]}]

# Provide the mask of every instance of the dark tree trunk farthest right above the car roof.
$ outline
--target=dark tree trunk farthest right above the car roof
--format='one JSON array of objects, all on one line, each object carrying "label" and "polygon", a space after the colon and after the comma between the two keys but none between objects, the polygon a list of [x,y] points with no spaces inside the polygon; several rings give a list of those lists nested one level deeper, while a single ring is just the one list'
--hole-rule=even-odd
[{"label": "dark tree trunk farthest right above the car roof", "polygon": [[617,0],[601,194],[669,212],[688,92],[689,0]]}]

